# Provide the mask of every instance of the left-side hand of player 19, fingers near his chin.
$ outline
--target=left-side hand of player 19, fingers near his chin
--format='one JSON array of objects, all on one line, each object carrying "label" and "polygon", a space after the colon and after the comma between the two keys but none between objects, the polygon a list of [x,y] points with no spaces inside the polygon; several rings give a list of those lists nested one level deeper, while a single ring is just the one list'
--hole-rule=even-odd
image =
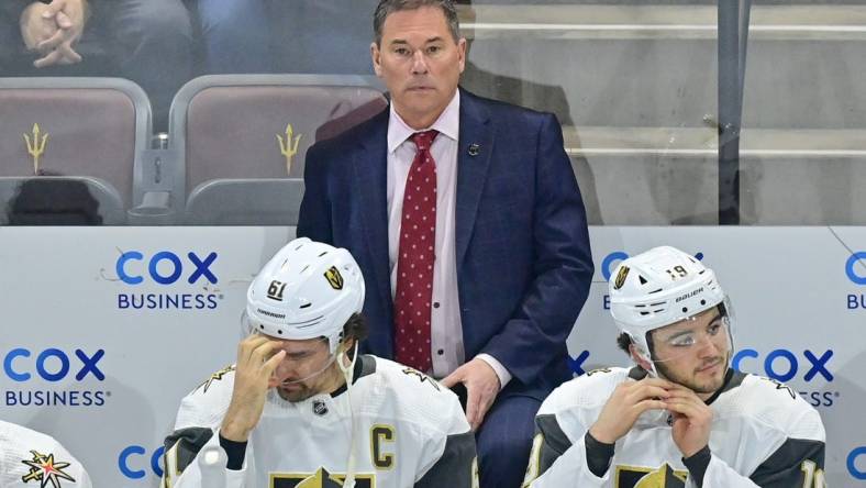
[{"label": "left-side hand of player 19, fingers near his chin", "polygon": [[634,422],[645,411],[665,409],[664,399],[674,384],[662,378],[646,377],[640,381],[628,380],[617,386],[599,413],[589,434],[597,441],[613,444],[632,430]]}]

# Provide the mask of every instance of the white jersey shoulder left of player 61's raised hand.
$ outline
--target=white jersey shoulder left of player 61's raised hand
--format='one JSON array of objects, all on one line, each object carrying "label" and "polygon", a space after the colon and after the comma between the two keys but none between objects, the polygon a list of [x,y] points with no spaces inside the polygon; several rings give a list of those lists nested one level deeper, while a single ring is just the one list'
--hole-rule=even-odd
[{"label": "white jersey shoulder left of player 61's raised hand", "polygon": [[234,373],[234,365],[214,371],[184,397],[175,429],[219,425],[232,400]]}]

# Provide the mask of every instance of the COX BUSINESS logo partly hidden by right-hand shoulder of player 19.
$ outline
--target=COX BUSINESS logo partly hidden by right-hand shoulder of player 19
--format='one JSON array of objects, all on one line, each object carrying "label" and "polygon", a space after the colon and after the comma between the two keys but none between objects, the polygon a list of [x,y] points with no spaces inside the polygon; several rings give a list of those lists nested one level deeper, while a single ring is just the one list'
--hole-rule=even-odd
[{"label": "COX BUSINESS logo partly hidden by right-hand shoulder of player 19", "polygon": [[802,354],[795,354],[789,350],[773,350],[762,354],[756,350],[744,348],[734,354],[731,366],[739,371],[763,371],[768,378],[780,382],[801,381],[806,388],[798,393],[803,400],[812,407],[833,407],[840,398],[837,390],[809,388],[814,381],[825,381],[828,385],[833,381],[833,373],[830,369],[832,357],[833,350],[824,352],[806,350]]}]

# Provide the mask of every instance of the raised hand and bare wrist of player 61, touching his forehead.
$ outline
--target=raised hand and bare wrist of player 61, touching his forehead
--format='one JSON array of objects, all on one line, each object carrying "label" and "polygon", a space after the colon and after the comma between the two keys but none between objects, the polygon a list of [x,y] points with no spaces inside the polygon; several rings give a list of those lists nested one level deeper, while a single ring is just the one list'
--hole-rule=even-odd
[{"label": "raised hand and bare wrist of player 61, touching his forehead", "polygon": [[[237,346],[237,365],[234,371],[234,390],[220,434],[235,442],[246,442],[258,424],[271,376],[286,351],[280,343],[260,334],[253,334]],[[279,350],[279,351],[277,351]],[[276,353],[275,353],[276,352]]]}]

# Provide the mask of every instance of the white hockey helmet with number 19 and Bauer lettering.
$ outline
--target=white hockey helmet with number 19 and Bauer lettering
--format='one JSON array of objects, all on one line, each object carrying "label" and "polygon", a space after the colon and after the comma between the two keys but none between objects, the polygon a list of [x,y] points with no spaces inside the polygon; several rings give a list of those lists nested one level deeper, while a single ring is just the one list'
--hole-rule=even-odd
[{"label": "white hockey helmet with number 19 and Bauer lettering", "polygon": [[[651,331],[726,301],[712,269],[670,246],[654,247],[624,259],[611,274],[608,288],[613,322],[651,364],[647,340]],[[722,313],[728,317],[729,312],[730,306],[725,303]]]}]

